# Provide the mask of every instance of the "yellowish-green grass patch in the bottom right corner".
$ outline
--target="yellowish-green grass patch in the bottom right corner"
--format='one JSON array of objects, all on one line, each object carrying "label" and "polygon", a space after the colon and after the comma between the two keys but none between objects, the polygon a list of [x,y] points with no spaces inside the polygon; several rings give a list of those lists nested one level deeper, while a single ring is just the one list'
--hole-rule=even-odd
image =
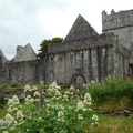
[{"label": "yellowish-green grass patch in the bottom right corner", "polygon": [[[133,133],[133,117],[99,115],[99,126],[95,133]],[[90,127],[89,133],[94,133]]]}]

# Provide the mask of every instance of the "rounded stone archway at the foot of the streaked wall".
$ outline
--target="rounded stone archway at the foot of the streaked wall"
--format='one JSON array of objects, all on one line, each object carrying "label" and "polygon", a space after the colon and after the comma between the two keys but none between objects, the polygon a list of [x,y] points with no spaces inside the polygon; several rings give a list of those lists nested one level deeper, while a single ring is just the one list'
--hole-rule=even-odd
[{"label": "rounded stone archway at the foot of the streaked wall", "polygon": [[71,84],[75,88],[75,89],[82,89],[83,84],[86,83],[84,75],[82,74],[74,74],[71,78]]}]

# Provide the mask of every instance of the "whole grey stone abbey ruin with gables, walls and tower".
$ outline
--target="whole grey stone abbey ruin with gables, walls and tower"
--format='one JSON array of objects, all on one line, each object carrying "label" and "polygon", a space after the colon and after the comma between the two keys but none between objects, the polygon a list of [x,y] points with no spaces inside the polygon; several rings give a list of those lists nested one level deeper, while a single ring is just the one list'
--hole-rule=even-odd
[{"label": "whole grey stone abbey ruin with gables, walls and tower", "polygon": [[17,47],[11,61],[0,51],[0,84],[81,85],[108,75],[133,75],[133,10],[103,11],[102,34],[79,14],[63,42],[49,44],[44,59],[30,44]]}]

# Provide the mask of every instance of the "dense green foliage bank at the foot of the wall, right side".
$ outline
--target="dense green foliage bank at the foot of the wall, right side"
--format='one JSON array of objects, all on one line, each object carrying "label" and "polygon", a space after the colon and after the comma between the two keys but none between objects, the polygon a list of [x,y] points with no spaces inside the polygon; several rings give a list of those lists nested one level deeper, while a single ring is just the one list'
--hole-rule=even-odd
[{"label": "dense green foliage bank at the foot of the wall, right side", "polygon": [[88,84],[88,90],[95,103],[104,103],[108,100],[120,100],[124,96],[133,102],[133,81],[122,80],[120,78],[106,78],[101,83],[94,82]]}]

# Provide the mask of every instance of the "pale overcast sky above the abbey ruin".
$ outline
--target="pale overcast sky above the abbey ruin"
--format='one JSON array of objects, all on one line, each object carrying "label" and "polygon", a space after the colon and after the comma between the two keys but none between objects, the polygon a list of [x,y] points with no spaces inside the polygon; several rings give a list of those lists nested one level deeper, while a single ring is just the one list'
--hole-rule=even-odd
[{"label": "pale overcast sky above the abbey ruin", "polygon": [[101,12],[133,9],[132,0],[0,0],[0,49],[10,60],[17,45],[35,52],[44,39],[65,38],[79,16],[101,33]]}]

